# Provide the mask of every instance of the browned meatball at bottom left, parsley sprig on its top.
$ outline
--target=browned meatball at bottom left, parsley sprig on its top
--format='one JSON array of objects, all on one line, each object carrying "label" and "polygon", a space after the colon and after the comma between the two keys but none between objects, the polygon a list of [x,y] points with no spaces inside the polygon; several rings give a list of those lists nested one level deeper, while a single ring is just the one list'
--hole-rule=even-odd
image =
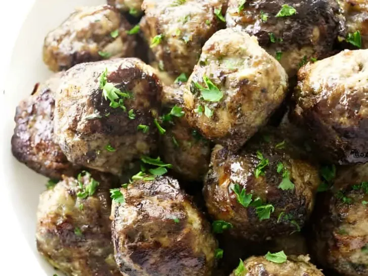
[{"label": "browned meatball at bottom left, parsley sprig on its top", "polygon": [[64,177],[39,197],[38,251],[67,275],[120,275],[111,242],[108,175]]}]

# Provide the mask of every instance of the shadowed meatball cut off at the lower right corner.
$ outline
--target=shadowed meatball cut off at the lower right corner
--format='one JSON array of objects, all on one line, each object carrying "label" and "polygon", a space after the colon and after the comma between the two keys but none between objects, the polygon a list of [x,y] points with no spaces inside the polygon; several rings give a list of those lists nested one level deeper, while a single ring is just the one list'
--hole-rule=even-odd
[{"label": "shadowed meatball cut off at the lower right corner", "polygon": [[319,263],[342,275],[368,275],[368,182],[351,183],[317,201],[312,250]]}]

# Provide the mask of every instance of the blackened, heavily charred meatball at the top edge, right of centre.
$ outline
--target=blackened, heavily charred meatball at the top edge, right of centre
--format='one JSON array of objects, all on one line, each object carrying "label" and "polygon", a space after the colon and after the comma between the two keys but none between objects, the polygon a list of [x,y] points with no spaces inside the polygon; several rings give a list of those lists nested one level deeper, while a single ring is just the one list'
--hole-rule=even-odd
[{"label": "blackened, heavily charred meatball at the top edge, right of centre", "polygon": [[[296,13],[277,17],[283,5],[294,8]],[[251,0],[242,6],[244,9],[239,6],[238,0],[229,0],[227,27],[257,36],[259,44],[280,59],[290,77],[305,61],[331,56],[342,31],[343,18],[334,0]]]}]

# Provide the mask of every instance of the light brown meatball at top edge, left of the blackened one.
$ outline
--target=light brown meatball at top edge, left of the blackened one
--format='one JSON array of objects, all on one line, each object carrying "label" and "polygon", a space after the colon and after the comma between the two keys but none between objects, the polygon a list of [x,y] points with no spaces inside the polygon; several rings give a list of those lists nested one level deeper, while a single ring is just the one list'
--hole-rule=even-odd
[{"label": "light brown meatball at top edge, left of the blackened one", "polygon": [[141,30],[157,62],[171,74],[189,75],[203,44],[220,27],[224,0],[145,0]]}]

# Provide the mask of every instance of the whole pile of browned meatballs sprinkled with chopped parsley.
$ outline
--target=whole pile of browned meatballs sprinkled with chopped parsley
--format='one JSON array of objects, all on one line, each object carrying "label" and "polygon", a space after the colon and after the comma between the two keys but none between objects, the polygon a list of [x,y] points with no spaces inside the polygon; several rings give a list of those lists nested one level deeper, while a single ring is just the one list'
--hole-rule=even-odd
[{"label": "whole pile of browned meatballs sprinkled with chopped parsley", "polygon": [[108,0],[44,39],[12,152],[69,276],[368,276],[368,2]]}]

